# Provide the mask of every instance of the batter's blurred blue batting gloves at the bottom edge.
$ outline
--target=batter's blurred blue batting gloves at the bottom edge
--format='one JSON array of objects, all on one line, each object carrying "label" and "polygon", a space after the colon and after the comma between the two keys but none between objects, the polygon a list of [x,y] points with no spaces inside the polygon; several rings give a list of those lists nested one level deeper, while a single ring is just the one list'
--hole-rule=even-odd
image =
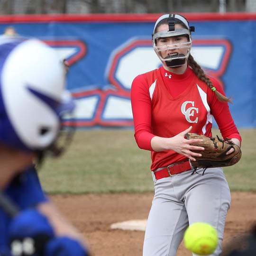
[{"label": "batter's blurred blue batting gloves at the bottom edge", "polygon": [[46,216],[36,209],[21,211],[11,221],[9,245],[15,256],[89,256],[78,240],[56,237]]}]

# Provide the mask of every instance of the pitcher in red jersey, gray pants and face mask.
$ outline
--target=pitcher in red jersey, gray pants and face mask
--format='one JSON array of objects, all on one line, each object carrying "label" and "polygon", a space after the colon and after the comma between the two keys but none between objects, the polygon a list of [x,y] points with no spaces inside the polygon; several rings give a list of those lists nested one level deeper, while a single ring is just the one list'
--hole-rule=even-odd
[{"label": "pitcher in red jersey, gray pants and face mask", "polygon": [[[222,168],[198,169],[190,161],[199,140],[187,132],[211,136],[212,116],[223,137],[240,146],[241,137],[231,117],[219,82],[206,76],[190,54],[192,40],[186,18],[165,14],[158,18],[152,41],[163,66],[138,75],[131,87],[137,145],[151,151],[155,196],[149,212],[143,256],[175,256],[189,224],[202,221],[218,230],[221,252],[230,191]],[[230,149],[230,154],[233,149]],[[193,175],[192,175],[193,174]]]}]

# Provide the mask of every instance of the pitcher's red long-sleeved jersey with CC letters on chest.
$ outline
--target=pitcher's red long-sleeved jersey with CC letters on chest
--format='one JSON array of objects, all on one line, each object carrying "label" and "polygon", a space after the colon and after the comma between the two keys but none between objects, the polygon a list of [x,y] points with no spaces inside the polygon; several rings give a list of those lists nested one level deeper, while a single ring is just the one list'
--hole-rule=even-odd
[{"label": "pitcher's red long-sleeved jersey with CC letters on chest", "polygon": [[[217,91],[224,91],[210,78]],[[211,136],[212,117],[224,138],[241,137],[231,117],[227,102],[220,102],[192,71],[183,74],[163,67],[138,75],[131,87],[135,138],[140,148],[151,150],[151,170],[181,161],[186,157],[173,150],[153,151],[152,137],[174,137],[192,126],[192,133]]]}]

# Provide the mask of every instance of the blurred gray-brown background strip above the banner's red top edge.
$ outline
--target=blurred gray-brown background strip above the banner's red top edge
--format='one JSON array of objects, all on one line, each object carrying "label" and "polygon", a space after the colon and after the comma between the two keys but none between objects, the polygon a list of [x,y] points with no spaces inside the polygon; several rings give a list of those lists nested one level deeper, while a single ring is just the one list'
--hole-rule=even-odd
[{"label": "blurred gray-brown background strip above the banner's red top edge", "polygon": [[256,11],[255,0],[0,0],[0,14]]}]

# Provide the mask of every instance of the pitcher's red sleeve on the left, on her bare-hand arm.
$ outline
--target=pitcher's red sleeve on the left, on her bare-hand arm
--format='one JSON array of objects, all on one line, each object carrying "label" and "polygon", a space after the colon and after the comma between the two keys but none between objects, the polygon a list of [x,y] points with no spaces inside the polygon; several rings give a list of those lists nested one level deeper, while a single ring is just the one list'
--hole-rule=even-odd
[{"label": "pitcher's red sleeve on the left, on her bare-hand arm", "polygon": [[153,151],[151,139],[151,99],[146,77],[138,75],[131,86],[131,106],[134,121],[134,137],[139,148]]}]

